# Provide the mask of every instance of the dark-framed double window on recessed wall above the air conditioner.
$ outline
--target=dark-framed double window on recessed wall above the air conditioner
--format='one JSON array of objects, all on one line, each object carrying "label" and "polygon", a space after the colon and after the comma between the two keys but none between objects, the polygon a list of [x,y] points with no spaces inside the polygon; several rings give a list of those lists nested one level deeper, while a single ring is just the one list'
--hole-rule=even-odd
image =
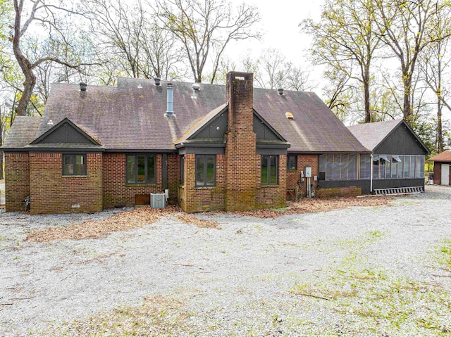
[{"label": "dark-framed double window on recessed wall above the air conditioner", "polygon": [[155,184],[155,155],[127,155],[127,184]]}]

